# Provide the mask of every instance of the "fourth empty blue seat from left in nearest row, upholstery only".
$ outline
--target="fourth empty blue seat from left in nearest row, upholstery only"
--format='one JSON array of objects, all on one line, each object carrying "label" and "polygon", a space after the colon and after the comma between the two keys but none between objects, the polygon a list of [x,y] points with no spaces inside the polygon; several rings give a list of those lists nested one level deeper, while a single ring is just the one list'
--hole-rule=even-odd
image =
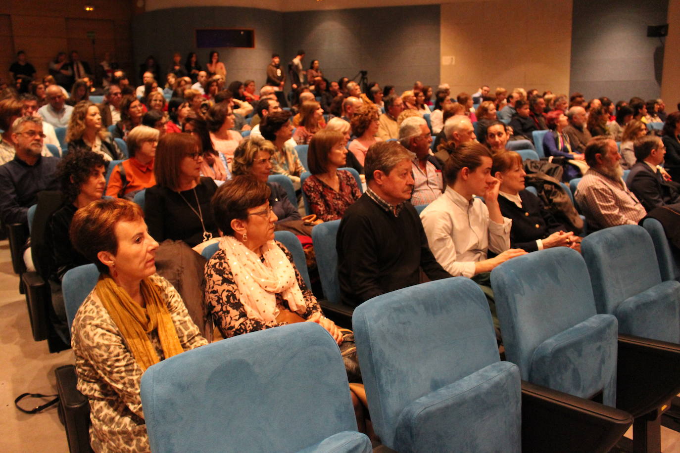
[{"label": "fourth empty blue seat from left in nearest row, upholstery only", "polygon": [[654,244],[638,225],[619,225],[581,242],[598,313],[613,314],[619,331],[680,343],[680,282],[662,282]]}]

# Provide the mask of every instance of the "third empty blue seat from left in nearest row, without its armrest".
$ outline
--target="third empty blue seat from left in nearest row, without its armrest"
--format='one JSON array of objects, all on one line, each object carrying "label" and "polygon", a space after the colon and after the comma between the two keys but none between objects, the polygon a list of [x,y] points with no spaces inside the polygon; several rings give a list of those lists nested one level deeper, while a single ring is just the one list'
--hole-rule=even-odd
[{"label": "third empty blue seat from left in nearest row, without its armrest", "polygon": [[556,247],[491,273],[506,357],[522,379],[615,406],[617,320],[597,314],[581,255]]}]

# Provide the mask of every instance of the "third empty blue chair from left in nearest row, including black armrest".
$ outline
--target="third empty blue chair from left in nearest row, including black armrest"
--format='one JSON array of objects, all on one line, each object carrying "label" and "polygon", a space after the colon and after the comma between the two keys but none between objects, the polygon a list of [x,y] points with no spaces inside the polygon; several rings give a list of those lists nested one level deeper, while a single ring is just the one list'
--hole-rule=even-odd
[{"label": "third empty blue chair from left in nearest row, including black armrest", "polygon": [[506,357],[523,379],[602,401],[635,420],[635,452],[660,451],[660,416],[680,393],[680,345],[618,332],[597,314],[581,255],[556,247],[491,273]]}]

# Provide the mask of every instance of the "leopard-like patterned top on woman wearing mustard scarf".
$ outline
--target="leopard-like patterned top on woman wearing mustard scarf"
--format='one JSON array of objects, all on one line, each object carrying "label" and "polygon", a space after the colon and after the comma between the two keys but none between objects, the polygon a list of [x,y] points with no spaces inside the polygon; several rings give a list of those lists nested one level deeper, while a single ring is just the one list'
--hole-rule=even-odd
[{"label": "leopard-like patterned top on woman wearing mustard scarf", "polygon": [[[150,277],[160,289],[184,350],[207,344],[189,317],[182,298],[165,278]],[[163,360],[158,332],[149,335]],[[93,290],[73,320],[71,347],[75,354],[78,390],[90,401],[90,445],[95,452],[150,452],[139,397],[142,369],[120,330]]]}]

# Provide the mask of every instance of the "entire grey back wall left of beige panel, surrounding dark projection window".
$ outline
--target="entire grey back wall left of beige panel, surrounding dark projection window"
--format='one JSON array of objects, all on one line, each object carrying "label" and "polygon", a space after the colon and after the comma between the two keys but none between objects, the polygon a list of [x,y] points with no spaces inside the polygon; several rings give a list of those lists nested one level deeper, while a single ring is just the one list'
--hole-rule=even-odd
[{"label": "entire grey back wall left of beige panel, surrounding dark projection window", "polygon": [[369,81],[395,85],[400,93],[415,80],[435,90],[439,85],[439,5],[289,13],[242,7],[156,10],[133,19],[137,67],[153,55],[165,71],[175,51],[183,58],[197,52],[205,67],[210,49],[195,48],[194,29],[211,27],[255,30],[254,49],[217,49],[227,81],[254,79],[261,86],[272,52],[281,54],[285,67],[302,48],[305,69],[312,59],[320,60],[330,80],[365,69]]}]

